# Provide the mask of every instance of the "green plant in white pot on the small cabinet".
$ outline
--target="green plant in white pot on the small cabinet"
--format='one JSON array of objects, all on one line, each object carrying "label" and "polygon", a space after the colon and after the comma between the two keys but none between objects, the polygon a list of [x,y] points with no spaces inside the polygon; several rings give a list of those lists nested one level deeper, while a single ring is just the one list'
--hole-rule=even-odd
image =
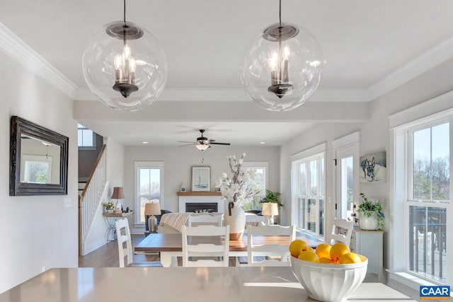
[{"label": "green plant in white pot on the small cabinet", "polygon": [[382,213],[382,204],[372,202],[364,193],[360,193],[362,203],[359,204],[359,221],[362,230],[382,230],[384,229],[384,213]]}]

